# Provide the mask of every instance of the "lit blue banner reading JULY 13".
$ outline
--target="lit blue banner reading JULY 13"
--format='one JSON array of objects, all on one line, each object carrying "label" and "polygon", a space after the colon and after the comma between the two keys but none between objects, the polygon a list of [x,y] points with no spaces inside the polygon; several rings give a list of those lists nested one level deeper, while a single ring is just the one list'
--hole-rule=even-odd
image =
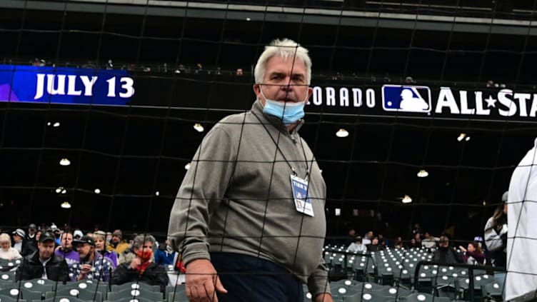
[{"label": "lit blue banner reading JULY 13", "polygon": [[127,71],[0,65],[0,101],[124,106],[133,95]]}]

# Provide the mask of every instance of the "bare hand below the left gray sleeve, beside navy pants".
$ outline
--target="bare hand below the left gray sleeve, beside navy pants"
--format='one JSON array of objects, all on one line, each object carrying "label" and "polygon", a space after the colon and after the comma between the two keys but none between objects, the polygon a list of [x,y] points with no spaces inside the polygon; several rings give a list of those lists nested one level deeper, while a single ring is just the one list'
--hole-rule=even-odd
[{"label": "bare hand below the left gray sleeve, beside navy pants", "polygon": [[187,264],[185,283],[186,297],[191,302],[218,302],[216,291],[228,292],[220,282],[213,263],[207,259],[197,259]]}]

